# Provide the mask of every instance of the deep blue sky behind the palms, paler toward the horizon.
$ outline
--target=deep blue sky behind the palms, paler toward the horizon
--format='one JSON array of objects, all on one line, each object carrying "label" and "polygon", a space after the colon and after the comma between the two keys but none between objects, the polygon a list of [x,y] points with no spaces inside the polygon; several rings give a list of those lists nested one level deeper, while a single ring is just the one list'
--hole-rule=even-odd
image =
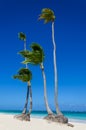
[{"label": "deep blue sky behind the palms, paler toward the horizon", "polygon": [[[12,79],[21,67],[23,50],[18,32],[27,35],[27,48],[39,43],[45,52],[45,73],[50,106],[54,106],[54,72],[51,23],[38,21],[42,8],[56,15],[55,39],[59,105],[61,109],[86,110],[86,1],[85,0],[1,0],[0,1],[0,109],[22,109],[26,84]],[[33,73],[33,109],[45,109],[43,80],[39,66],[29,66]]]}]

